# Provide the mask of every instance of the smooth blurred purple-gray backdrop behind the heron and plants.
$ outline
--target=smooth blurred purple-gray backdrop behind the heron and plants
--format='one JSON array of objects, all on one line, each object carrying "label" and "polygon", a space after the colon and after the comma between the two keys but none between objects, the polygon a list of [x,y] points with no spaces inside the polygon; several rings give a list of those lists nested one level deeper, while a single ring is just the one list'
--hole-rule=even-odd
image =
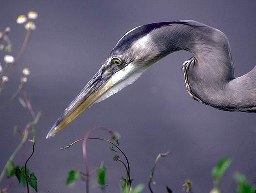
[{"label": "smooth blurred purple-gray backdrop behind the heron and plants", "polygon": [[[188,178],[194,193],[210,192],[211,168],[224,156],[233,159],[222,180],[225,193],[235,192],[235,171],[255,182],[256,114],[216,110],[191,99],[181,73],[181,64],[191,56],[185,51],[168,55],[133,85],[93,105],[54,138],[45,139],[62,110],[101,67],[120,37],[139,25],[192,19],[218,28],[230,41],[235,75],[247,73],[256,65],[255,0],[1,0],[0,4],[0,31],[12,28],[14,55],[25,35],[23,26],[15,23],[16,17],[30,10],[39,13],[37,29],[0,102],[15,92],[22,69],[29,67],[25,90],[32,94],[33,108],[43,113],[37,126],[35,154],[29,162],[40,192],[85,192],[82,181],[73,187],[64,185],[70,169],[85,170],[82,143],[65,151],[60,147],[83,138],[95,126],[120,133],[120,147],[130,160],[133,185],[147,184],[156,155],[170,151],[157,165],[155,193],[164,193],[166,185],[181,193],[181,185]],[[13,137],[15,124],[23,129],[30,121],[28,110],[17,100],[0,110],[0,168],[20,141],[20,137]],[[108,138],[104,132],[94,136]],[[104,142],[89,141],[90,169],[104,161],[105,192],[119,193],[119,180],[125,172],[113,161],[115,153],[108,147]],[[28,143],[26,157],[30,151]],[[19,160],[18,155],[15,163]],[[1,187],[7,183],[3,180]],[[90,184],[91,192],[101,192],[95,176]],[[15,182],[8,192],[23,190]]]}]

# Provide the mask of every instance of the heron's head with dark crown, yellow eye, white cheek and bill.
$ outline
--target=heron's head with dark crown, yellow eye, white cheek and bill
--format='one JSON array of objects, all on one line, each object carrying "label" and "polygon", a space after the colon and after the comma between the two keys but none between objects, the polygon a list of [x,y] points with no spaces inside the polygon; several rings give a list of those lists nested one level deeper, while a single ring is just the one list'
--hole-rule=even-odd
[{"label": "heron's head with dark crown, yellow eye, white cheek and bill", "polygon": [[62,112],[46,138],[54,136],[92,104],[134,83],[151,64],[159,60],[162,55],[152,33],[156,28],[159,26],[148,24],[124,34],[102,67]]}]

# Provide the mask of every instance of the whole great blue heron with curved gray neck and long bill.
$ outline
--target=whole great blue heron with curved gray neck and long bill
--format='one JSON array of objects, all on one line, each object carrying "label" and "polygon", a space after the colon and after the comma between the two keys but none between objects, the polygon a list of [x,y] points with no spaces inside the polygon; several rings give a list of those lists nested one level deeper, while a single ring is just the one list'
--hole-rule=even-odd
[{"label": "whole great blue heron with curved gray neck and long bill", "polygon": [[256,112],[256,67],[234,77],[230,46],[223,32],[191,20],[152,23],[133,28],[121,37],[46,138],[92,104],[134,83],[158,60],[179,50],[193,55],[182,65],[187,91],[193,99],[219,110]]}]

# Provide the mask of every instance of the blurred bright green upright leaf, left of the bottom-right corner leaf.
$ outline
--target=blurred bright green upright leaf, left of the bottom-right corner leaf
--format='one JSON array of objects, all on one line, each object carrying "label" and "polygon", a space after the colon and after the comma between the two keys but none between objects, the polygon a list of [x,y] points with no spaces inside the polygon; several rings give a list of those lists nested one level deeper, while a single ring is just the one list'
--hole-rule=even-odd
[{"label": "blurred bright green upright leaf, left of the bottom-right corner leaf", "polygon": [[226,157],[221,159],[217,165],[215,165],[212,170],[211,174],[214,178],[222,178],[224,175],[226,169],[229,167],[231,164],[232,159],[230,157]]}]

